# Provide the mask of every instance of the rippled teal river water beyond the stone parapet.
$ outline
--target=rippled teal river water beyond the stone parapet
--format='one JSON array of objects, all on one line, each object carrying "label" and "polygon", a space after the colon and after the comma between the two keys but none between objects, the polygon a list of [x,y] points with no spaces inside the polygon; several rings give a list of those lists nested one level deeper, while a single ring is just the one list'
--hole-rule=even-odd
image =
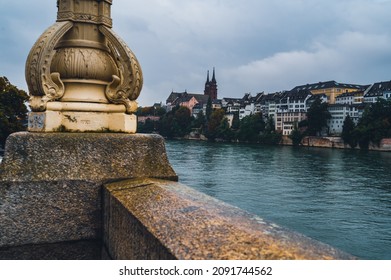
[{"label": "rippled teal river water beyond the stone parapet", "polygon": [[391,153],[167,141],[179,182],[362,259],[391,259]]}]

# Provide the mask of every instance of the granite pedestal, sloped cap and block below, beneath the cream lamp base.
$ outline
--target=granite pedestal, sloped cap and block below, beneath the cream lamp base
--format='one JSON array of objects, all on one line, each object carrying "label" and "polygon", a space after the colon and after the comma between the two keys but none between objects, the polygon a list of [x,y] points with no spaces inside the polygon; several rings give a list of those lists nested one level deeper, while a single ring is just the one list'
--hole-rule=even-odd
[{"label": "granite pedestal, sloped cap and block below, beneath the cream lamp base", "polygon": [[177,180],[157,135],[11,135],[0,168],[0,255],[1,248],[100,240],[102,185],[148,177]]}]

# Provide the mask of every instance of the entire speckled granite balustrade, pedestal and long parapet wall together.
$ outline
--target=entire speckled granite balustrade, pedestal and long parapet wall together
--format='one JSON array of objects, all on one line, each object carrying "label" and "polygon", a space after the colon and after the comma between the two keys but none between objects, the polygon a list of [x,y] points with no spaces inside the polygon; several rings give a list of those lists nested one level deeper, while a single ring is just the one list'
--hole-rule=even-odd
[{"label": "entire speckled granite balustrade, pedestal and long parapet wall together", "polygon": [[0,259],[352,259],[177,183],[157,135],[16,133]]}]

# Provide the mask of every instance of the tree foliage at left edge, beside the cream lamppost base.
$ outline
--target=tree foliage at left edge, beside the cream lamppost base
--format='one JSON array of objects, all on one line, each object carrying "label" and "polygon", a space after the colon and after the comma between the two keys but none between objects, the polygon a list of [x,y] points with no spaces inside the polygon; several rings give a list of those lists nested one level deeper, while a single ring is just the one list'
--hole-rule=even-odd
[{"label": "tree foliage at left edge, beside the cream lamppost base", "polygon": [[28,96],[25,91],[12,85],[6,77],[0,77],[0,144],[11,133],[25,130]]}]

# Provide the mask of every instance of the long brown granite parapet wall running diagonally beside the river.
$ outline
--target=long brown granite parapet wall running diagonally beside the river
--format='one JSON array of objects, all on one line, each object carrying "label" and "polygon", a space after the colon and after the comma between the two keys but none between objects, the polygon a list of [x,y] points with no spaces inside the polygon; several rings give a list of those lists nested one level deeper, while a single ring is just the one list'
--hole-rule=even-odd
[{"label": "long brown granite parapet wall running diagonally beside the river", "polygon": [[104,243],[113,259],[352,259],[175,182],[104,189]]}]

